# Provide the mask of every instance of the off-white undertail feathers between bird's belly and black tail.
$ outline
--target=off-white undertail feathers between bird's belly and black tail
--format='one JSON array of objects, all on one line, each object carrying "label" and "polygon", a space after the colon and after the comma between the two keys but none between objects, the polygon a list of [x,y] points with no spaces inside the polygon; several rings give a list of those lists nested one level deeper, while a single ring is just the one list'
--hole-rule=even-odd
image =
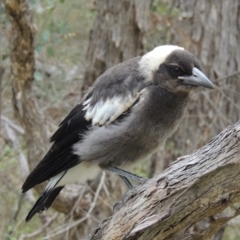
[{"label": "off-white undertail feathers between bird's belly and black tail", "polygon": [[[59,187],[70,183],[84,183],[86,180],[94,178],[100,170],[96,164],[81,162],[75,167],[69,168],[66,173],[64,171],[51,178],[46,189],[52,188],[56,184],[56,187]],[[63,174],[64,176],[62,177]],[[59,181],[60,178],[61,180]]]}]

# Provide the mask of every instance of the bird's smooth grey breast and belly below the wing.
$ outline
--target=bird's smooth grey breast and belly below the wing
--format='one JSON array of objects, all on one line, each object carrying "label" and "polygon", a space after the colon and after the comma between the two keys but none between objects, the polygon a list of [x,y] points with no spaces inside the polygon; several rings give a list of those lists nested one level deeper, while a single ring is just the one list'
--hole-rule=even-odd
[{"label": "bird's smooth grey breast and belly below the wing", "polygon": [[78,150],[82,160],[102,167],[133,163],[165,142],[184,114],[187,95],[176,96],[158,85],[143,91],[122,122],[92,127]]}]

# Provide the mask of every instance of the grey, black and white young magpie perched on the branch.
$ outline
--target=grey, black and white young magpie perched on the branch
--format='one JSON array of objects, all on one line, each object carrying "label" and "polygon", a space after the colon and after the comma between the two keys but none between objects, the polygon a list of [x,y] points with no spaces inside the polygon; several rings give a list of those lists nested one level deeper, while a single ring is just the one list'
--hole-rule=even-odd
[{"label": "grey, black and white young magpie perched on the branch", "polygon": [[[45,157],[22,186],[48,181],[26,221],[47,210],[66,184],[99,170],[118,174],[131,189],[142,178],[123,170],[144,161],[181,122],[199,87],[214,88],[200,61],[175,45],[162,45],[101,74],[52,135]],[[145,160],[146,161],[146,160]]]}]

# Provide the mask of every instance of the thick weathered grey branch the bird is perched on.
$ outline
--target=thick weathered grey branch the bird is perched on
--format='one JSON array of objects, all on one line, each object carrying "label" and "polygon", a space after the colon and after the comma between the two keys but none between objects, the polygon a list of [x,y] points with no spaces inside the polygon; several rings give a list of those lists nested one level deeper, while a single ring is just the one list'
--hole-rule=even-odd
[{"label": "thick weathered grey branch the bird is perched on", "polygon": [[[177,233],[240,201],[240,122],[197,152],[178,158],[162,174],[129,192],[124,205],[86,240],[179,239]],[[185,239],[211,239],[231,218],[215,219]]]}]

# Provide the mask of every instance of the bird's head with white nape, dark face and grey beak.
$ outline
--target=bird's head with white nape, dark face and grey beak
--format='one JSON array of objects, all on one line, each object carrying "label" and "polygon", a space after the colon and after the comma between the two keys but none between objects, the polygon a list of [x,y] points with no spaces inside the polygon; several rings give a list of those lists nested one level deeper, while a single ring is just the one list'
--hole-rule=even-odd
[{"label": "bird's head with white nape, dark face and grey beak", "polygon": [[191,92],[200,86],[214,88],[201,71],[199,60],[178,46],[156,47],[140,59],[139,70],[148,81],[172,92]]}]

